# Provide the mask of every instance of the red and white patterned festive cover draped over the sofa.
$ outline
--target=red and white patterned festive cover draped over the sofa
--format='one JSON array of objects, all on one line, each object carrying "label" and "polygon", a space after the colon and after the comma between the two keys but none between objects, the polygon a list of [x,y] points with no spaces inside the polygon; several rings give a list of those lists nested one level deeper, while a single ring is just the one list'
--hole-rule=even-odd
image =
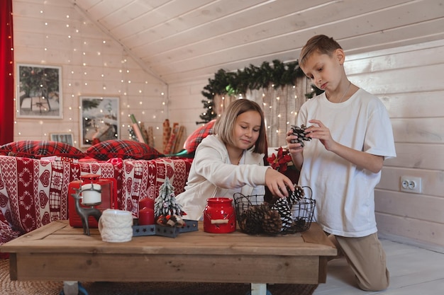
[{"label": "red and white patterned festive cover draped over the sofa", "polygon": [[51,221],[68,219],[68,185],[80,175],[117,182],[118,209],[138,216],[139,199],[158,196],[165,177],[183,192],[192,158],[71,163],[0,156],[0,245]]}]

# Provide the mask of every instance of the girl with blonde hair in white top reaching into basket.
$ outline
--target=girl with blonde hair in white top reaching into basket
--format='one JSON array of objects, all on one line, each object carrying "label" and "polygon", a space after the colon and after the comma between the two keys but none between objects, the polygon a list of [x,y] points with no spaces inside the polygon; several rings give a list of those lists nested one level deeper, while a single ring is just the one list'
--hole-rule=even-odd
[{"label": "girl with blonde hair in white top reaching into basket", "polygon": [[196,149],[187,186],[176,199],[187,219],[199,220],[210,197],[272,195],[287,197],[294,191],[292,180],[264,166],[267,150],[264,114],[252,100],[235,100],[228,105],[214,126],[215,134],[201,141]]}]

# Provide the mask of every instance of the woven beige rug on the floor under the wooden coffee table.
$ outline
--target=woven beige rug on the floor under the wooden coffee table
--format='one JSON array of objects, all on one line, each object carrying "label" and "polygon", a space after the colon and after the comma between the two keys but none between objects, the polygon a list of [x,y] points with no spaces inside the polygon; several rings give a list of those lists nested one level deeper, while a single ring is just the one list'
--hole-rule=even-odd
[{"label": "woven beige rug on the floor under the wooden coffee table", "polygon": [[[9,279],[9,260],[0,260],[1,295],[57,295],[62,282],[18,282]],[[182,282],[82,282],[89,295],[245,295],[250,284]],[[311,295],[318,285],[270,284],[272,295]]]}]

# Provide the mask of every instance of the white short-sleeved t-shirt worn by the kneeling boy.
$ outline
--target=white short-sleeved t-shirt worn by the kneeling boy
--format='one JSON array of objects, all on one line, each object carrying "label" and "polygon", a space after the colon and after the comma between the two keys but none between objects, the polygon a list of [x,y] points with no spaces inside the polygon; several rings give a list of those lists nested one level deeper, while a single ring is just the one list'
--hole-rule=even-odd
[{"label": "white short-sleeved t-shirt worn by the kneeling boy", "polygon": [[[331,103],[325,93],[308,100],[296,125],[310,126],[309,120],[320,120],[344,146],[384,158],[396,156],[387,110],[363,89],[343,103]],[[315,219],[328,233],[361,237],[377,231],[374,187],[380,177],[380,172],[372,173],[327,151],[318,139],[305,141],[299,185],[313,190]]]}]

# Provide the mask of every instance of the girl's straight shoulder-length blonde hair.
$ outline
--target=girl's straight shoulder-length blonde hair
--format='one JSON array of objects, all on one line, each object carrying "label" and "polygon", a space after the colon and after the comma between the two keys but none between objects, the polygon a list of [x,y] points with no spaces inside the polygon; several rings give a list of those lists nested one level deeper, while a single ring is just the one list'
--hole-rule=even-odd
[{"label": "girl's straight shoulder-length blonde hair", "polygon": [[260,115],[260,131],[259,137],[255,142],[253,152],[257,154],[265,154],[267,151],[267,134],[265,134],[265,117],[260,105],[252,100],[238,99],[228,105],[221,117],[218,117],[214,125],[214,133],[218,134],[224,144],[235,145],[234,128],[238,115],[253,110]]}]

